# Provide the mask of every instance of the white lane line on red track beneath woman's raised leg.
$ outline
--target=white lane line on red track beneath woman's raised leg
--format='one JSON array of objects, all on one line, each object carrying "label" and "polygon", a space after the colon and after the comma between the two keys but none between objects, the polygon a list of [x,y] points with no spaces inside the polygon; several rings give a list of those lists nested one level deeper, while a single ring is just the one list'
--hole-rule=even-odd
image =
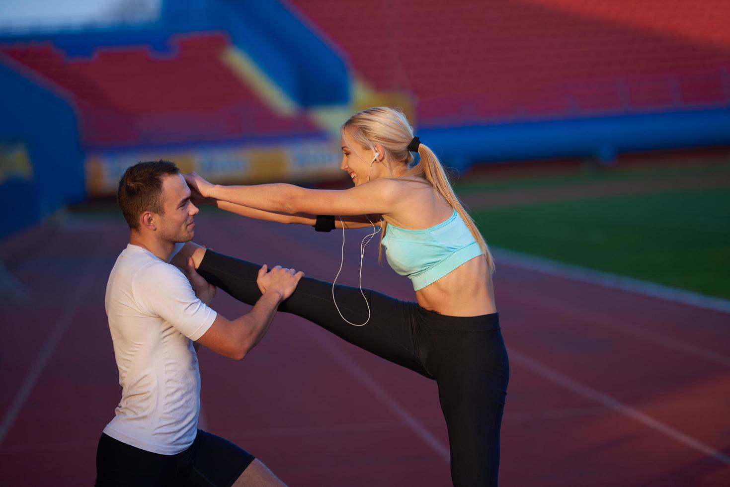
[{"label": "white lane line on red track beneath woman's raised leg", "polygon": [[379,383],[372,377],[372,375],[369,374],[369,372],[366,371],[366,369],[363,369],[360,367],[356,361],[354,361],[350,356],[347,356],[345,352],[340,350],[340,348],[332,342],[326,335],[323,335],[321,333],[315,332],[315,329],[312,329],[311,326],[301,326],[302,331],[306,333],[314,342],[317,343],[326,353],[329,354],[332,358],[334,358],[335,361],[339,365],[342,366],[347,372],[350,372],[350,375],[356,378],[358,382],[360,382],[368,391],[370,391],[377,399],[380,400],[380,402],[383,402],[386,407],[388,407],[389,410],[393,414],[395,414],[403,423],[408,426],[414,432],[415,434],[420,437],[421,440],[426,442],[426,445],[429,445],[434,452],[437,453],[439,457],[441,457],[442,460],[446,461],[447,463],[450,462],[450,455],[449,455],[449,448],[447,445],[444,445],[441,440],[439,440],[436,436],[434,436],[433,433],[429,432],[428,429],[426,429],[426,426],[423,426],[423,423],[418,421],[411,413],[408,412],[408,410],[403,407],[398,401],[396,401],[393,396],[388,394],[385,389],[380,386]]}]

